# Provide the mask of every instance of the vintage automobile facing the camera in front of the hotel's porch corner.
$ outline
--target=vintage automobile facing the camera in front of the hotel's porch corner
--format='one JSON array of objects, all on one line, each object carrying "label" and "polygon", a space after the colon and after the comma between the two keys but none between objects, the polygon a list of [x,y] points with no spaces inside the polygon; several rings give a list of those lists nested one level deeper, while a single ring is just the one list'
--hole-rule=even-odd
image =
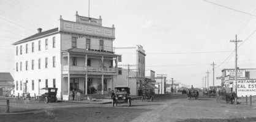
[{"label": "vintage automobile facing the camera in front of the hotel's porch corner", "polygon": [[112,98],[112,106],[118,103],[127,102],[128,107],[132,105],[131,97],[130,97],[130,88],[127,86],[116,86],[115,87],[115,95]]}]

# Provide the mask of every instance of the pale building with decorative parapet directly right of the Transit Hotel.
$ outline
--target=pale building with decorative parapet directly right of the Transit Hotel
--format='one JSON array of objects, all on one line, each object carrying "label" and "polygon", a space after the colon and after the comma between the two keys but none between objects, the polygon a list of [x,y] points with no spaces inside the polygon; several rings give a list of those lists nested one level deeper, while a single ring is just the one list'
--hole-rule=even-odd
[{"label": "pale building with decorative parapet directly right of the Transit Hotel", "polygon": [[[145,82],[145,50],[143,46],[137,45],[130,48],[115,48],[115,53],[122,56],[118,66],[122,68],[122,74],[114,79],[115,85],[128,85],[130,95],[138,95],[138,90]],[[129,67],[129,70],[128,70]],[[127,76],[129,72],[129,83]]]}]

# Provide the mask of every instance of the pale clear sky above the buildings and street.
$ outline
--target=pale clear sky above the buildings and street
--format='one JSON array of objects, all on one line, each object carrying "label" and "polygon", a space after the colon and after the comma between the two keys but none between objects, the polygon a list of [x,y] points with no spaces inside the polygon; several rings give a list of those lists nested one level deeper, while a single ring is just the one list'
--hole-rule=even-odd
[{"label": "pale clear sky above the buildings and street", "polygon": [[[1,0],[0,72],[14,75],[12,43],[58,27],[59,16],[75,21],[80,16],[102,18],[115,25],[114,47],[143,46],[146,70],[167,74],[167,79],[194,87],[220,85],[216,77],[238,67],[256,68],[256,1],[253,0]],[[89,7],[90,6],[90,7]],[[207,71],[209,77],[207,78]],[[206,83],[208,81],[206,80]]]}]

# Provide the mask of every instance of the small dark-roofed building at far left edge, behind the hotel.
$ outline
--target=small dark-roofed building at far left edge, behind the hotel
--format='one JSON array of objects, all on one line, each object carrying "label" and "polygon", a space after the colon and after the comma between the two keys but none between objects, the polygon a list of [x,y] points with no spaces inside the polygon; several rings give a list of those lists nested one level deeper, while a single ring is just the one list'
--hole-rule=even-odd
[{"label": "small dark-roofed building at far left edge, behind the hotel", "polygon": [[13,94],[11,93],[15,87],[13,81],[13,77],[10,73],[0,73],[0,96],[9,96]]}]

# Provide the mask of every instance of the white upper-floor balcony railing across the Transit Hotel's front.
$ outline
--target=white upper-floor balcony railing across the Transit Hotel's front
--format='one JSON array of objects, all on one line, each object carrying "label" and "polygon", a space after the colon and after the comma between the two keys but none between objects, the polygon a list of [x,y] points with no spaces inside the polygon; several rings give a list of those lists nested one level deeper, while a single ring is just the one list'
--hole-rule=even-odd
[{"label": "white upper-floor balcony railing across the Transit Hotel's front", "polygon": [[[68,65],[63,66],[63,71],[68,71]],[[69,71],[88,71],[88,72],[102,72],[101,67],[93,66],[69,66]],[[116,68],[103,68],[104,73],[117,73]]]}]

